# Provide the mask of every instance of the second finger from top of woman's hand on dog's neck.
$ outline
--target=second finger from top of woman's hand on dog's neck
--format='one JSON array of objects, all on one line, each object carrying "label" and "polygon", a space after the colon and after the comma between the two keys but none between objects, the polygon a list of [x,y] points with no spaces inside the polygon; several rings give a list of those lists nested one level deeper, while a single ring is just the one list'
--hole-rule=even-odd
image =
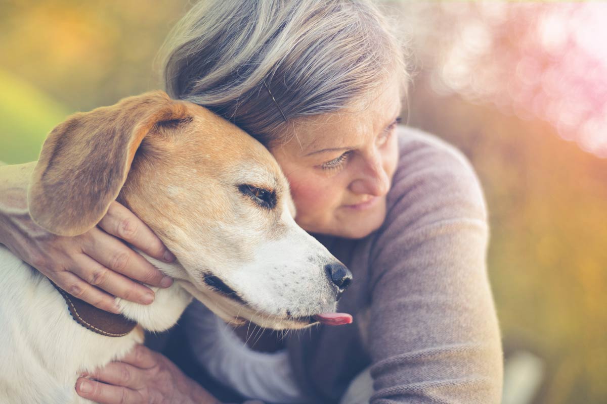
[{"label": "second finger from top of woman's hand on dog's neck", "polygon": [[[116,237],[110,236],[110,234],[98,228],[91,229],[89,233],[89,239],[83,243],[83,251],[104,267],[148,285],[171,286],[172,279],[170,277],[164,276],[158,268],[154,267],[141,254],[131,250]],[[100,275],[103,276],[103,274]],[[85,278],[85,280],[89,279]],[[93,283],[93,285],[97,285],[97,283]],[[129,286],[132,287],[133,285],[135,285],[135,282]],[[148,289],[148,291],[150,290]],[[135,301],[134,299],[127,300]]]}]

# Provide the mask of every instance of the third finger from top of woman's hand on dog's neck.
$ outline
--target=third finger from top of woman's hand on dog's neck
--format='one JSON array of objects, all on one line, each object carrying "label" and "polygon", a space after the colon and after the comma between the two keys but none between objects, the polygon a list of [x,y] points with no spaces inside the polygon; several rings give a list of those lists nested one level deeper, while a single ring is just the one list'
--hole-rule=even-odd
[{"label": "third finger from top of woman's hand on dog's neck", "polygon": [[86,254],[80,254],[74,260],[72,272],[90,285],[131,302],[148,305],[154,301],[154,292],[150,288],[109,270]]}]

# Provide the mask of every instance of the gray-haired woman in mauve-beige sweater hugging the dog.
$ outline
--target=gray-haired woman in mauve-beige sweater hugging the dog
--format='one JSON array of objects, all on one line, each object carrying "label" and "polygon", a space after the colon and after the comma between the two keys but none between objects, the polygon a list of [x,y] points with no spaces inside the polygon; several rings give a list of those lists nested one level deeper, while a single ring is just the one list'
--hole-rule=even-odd
[{"label": "gray-haired woman in mauve-beige sweater hugging the dog", "polygon": [[[218,402],[208,391],[266,403],[498,403],[483,193],[459,151],[398,125],[409,77],[378,9],[204,0],[172,31],[164,62],[173,98],[229,119],[276,157],[297,224],[354,275],[340,302],[354,324],[251,336],[194,303],[169,351],[205,377],[140,346],[79,379],[78,393],[100,403]],[[154,299],[134,280],[171,284],[121,242],[174,259],[125,207],[87,234],[56,237],[29,220],[27,179],[0,185],[0,241],[74,296],[116,311],[113,296]]]}]

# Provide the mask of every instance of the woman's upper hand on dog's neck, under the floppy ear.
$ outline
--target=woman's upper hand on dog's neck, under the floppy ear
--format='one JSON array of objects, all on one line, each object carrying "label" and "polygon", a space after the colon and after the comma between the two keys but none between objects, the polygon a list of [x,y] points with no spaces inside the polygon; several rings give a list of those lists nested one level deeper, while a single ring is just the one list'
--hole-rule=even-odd
[{"label": "woman's upper hand on dog's neck, under the floppy ear", "polygon": [[112,202],[97,227],[76,237],[48,233],[30,219],[27,187],[35,163],[0,167],[0,243],[67,293],[113,313],[114,296],[149,304],[172,280],[124,242],[159,260],[175,257],[135,214]]}]

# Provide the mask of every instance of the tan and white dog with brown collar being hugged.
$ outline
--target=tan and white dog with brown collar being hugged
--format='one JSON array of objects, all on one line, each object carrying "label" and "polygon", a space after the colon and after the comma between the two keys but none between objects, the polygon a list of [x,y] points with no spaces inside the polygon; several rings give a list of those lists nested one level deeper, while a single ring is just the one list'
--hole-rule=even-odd
[{"label": "tan and white dog with brown collar being hugged", "polygon": [[[108,315],[120,320],[99,325],[99,313],[84,314],[86,303],[0,245],[0,403],[89,402],[75,392],[78,375],[120,360],[143,342],[142,329],[171,328],[193,297],[233,324],[351,321],[334,313],[351,274],[296,225],[277,162],[200,105],[152,91],[76,113],[32,164],[36,224],[83,234],[118,200],[175,254],[174,263],[144,255],[175,281],[152,288],[151,305],[116,299],[123,314]],[[123,331],[107,331],[121,322]]]}]

